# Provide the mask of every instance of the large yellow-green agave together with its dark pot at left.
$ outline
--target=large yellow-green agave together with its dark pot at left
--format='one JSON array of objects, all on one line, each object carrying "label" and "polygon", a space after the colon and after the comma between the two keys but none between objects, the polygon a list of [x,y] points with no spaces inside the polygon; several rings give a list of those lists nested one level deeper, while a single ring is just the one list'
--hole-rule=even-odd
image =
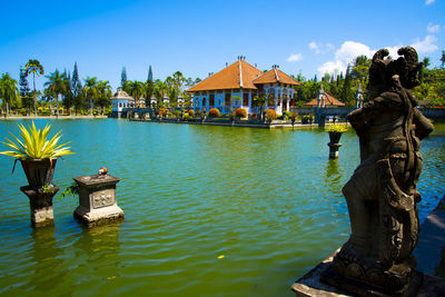
[{"label": "large yellow-green agave together with its dark pot at left", "polygon": [[6,138],[8,142],[2,143],[13,150],[0,151],[0,154],[16,158],[16,162],[20,160],[29,186],[41,188],[52,185],[57,158],[73,154],[69,147],[66,147],[68,142],[58,145],[61,131],[48,139],[51,125],[47,125],[43,129],[37,129],[33,121],[28,129],[23,125],[18,126],[22,139],[11,133],[17,143],[8,138]]}]

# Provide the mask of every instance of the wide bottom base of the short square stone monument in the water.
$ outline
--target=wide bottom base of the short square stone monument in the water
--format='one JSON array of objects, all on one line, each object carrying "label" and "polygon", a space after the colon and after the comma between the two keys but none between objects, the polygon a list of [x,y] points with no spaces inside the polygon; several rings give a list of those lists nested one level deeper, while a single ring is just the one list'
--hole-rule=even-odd
[{"label": "wide bottom base of the short square stone monument in the water", "polygon": [[78,206],[73,216],[88,228],[123,220],[123,211],[117,205],[91,211],[82,206]]}]

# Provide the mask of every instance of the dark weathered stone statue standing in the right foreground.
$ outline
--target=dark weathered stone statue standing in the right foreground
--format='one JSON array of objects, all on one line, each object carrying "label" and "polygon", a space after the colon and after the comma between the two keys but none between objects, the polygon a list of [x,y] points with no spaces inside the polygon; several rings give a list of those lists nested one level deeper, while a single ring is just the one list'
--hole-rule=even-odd
[{"label": "dark weathered stone statue standing in the right foreground", "polygon": [[403,294],[415,275],[419,146],[433,130],[409,91],[419,83],[417,52],[404,47],[398,55],[396,60],[385,59],[386,49],[374,55],[368,101],[348,115],[360,165],[343,188],[352,235],[333,261],[344,280],[392,295]]}]

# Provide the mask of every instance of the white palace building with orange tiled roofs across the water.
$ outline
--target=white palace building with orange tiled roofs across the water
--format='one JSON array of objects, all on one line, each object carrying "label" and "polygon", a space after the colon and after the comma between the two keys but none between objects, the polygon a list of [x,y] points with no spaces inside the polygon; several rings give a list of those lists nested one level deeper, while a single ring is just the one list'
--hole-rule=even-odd
[{"label": "white palace building with orange tiled roofs across the water", "polygon": [[245,61],[245,57],[227,66],[188,89],[194,95],[195,110],[217,108],[228,113],[236,108],[244,108],[248,113],[258,113],[256,96],[267,98],[264,110],[274,109],[278,115],[289,110],[294,103],[294,86],[300,85],[274,66],[267,72]]}]

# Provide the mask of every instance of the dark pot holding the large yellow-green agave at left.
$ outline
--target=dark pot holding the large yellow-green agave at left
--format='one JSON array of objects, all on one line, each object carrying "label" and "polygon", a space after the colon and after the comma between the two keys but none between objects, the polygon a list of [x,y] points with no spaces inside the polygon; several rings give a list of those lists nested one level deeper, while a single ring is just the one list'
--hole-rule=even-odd
[{"label": "dark pot holding the large yellow-green agave at left", "polygon": [[42,160],[20,159],[29,186],[42,187],[52,184],[57,158]]}]

